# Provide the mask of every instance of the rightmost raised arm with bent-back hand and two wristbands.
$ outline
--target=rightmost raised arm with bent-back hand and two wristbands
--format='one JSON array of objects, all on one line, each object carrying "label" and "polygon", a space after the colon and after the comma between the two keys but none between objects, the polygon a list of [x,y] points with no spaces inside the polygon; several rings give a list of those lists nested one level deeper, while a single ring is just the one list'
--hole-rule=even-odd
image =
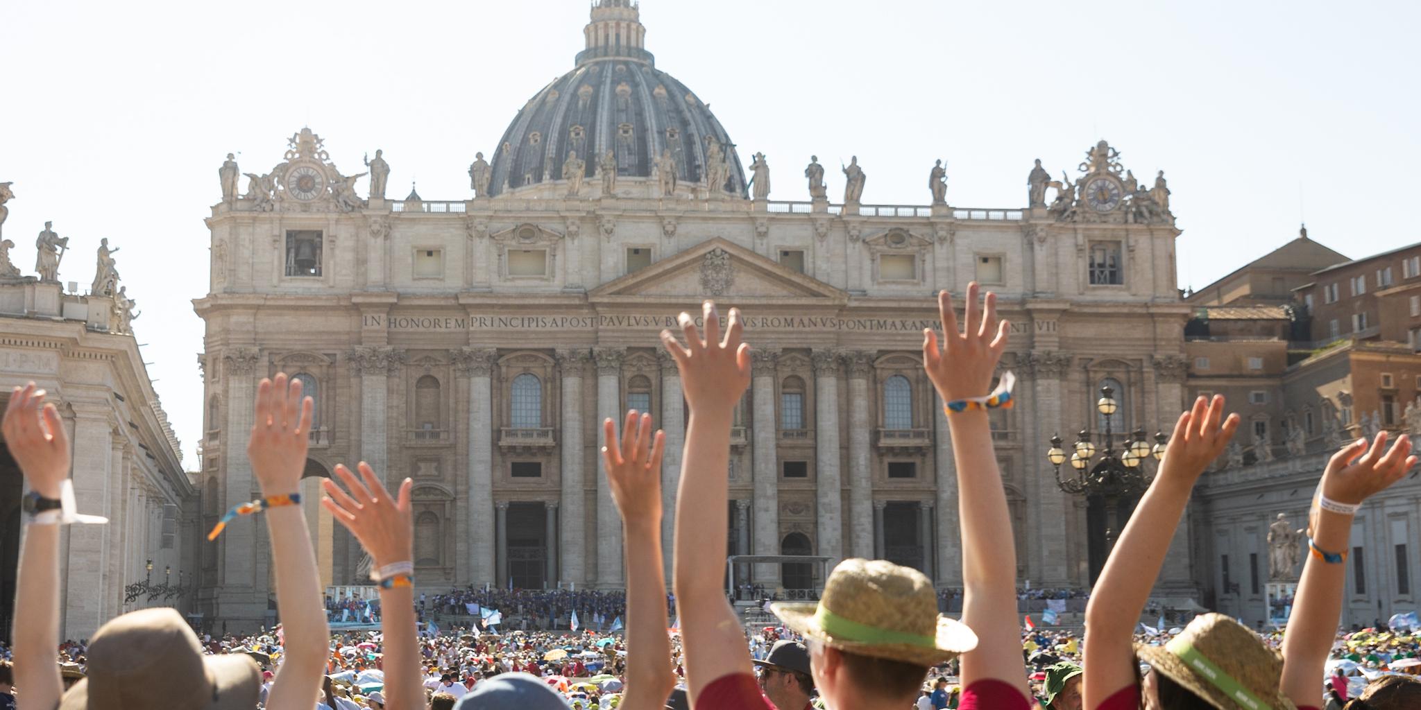
[{"label": "rightmost raised arm with bent-back hand and two wristbands", "polygon": [[[1385,446],[1387,433],[1381,432],[1370,449],[1366,439],[1357,439],[1333,454],[1323,471],[1320,488],[1322,497],[1329,500],[1327,508],[1360,506],[1401,480],[1415,466],[1417,457],[1410,456],[1411,439],[1407,435],[1401,435],[1383,456]],[[1351,537],[1353,515],[1322,508],[1319,503],[1313,501],[1309,525],[1312,542],[1319,552],[1309,550],[1293,611],[1287,618],[1287,633],[1283,635],[1282,690],[1297,704],[1316,701],[1317,679],[1323,677],[1327,652],[1337,638],[1347,574],[1347,542]]]}]

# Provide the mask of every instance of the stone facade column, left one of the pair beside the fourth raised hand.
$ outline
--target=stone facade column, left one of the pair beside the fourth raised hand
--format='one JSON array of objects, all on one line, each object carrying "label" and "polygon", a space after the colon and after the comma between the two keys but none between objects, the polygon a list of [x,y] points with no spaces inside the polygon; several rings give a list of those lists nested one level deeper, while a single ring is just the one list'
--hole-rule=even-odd
[{"label": "stone facade column, left one of the pair beside the fourth raised hand", "polygon": [[[587,506],[583,504],[585,447],[583,446],[583,372],[591,352],[557,351],[563,369],[563,575],[561,579],[587,584]],[[601,459],[601,457],[598,457]],[[557,508],[549,508],[549,514]],[[550,541],[551,544],[551,541]]]}]

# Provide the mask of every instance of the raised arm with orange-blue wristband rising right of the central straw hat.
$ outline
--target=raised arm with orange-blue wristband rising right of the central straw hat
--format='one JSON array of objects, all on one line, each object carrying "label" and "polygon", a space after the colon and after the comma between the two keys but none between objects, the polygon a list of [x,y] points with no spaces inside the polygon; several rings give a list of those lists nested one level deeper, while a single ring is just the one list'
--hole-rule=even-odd
[{"label": "raised arm with orange-blue wristband rising right of the central straw hat", "polygon": [[[996,294],[978,305],[978,284],[968,285],[965,332],[958,331],[952,297],[938,294],[944,349],[938,334],[922,331],[922,365],[944,403],[983,396],[1006,348],[1007,322],[996,318]],[[1002,473],[992,450],[986,409],[948,413],[958,470],[962,518],[962,622],[978,646],[962,655],[962,684],[995,679],[1027,694],[1022,672],[1022,632],[1016,621],[1016,542],[1006,508]]]}]

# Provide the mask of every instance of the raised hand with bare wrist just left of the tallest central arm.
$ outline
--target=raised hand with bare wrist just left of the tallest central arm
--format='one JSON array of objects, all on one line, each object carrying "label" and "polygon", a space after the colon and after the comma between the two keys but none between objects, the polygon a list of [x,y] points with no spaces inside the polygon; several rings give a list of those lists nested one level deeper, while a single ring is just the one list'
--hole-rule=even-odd
[{"label": "raised hand with bare wrist just left of the tallest central arm", "polygon": [[607,462],[607,481],[612,501],[622,520],[661,520],[661,453],[666,435],[651,435],[651,415],[627,412],[622,440],[617,443],[617,427],[611,419],[603,422],[603,459]]}]

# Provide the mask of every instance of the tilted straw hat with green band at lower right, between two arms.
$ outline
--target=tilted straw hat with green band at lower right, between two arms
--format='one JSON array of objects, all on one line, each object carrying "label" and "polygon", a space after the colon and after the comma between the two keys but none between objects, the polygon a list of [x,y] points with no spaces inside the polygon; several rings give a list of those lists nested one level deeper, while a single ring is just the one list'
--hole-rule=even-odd
[{"label": "tilted straw hat with green band at lower right, between two arms", "polygon": [[1135,655],[1219,710],[1296,710],[1279,690],[1283,657],[1232,616],[1195,616],[1164,646],[1137,643]]}]

